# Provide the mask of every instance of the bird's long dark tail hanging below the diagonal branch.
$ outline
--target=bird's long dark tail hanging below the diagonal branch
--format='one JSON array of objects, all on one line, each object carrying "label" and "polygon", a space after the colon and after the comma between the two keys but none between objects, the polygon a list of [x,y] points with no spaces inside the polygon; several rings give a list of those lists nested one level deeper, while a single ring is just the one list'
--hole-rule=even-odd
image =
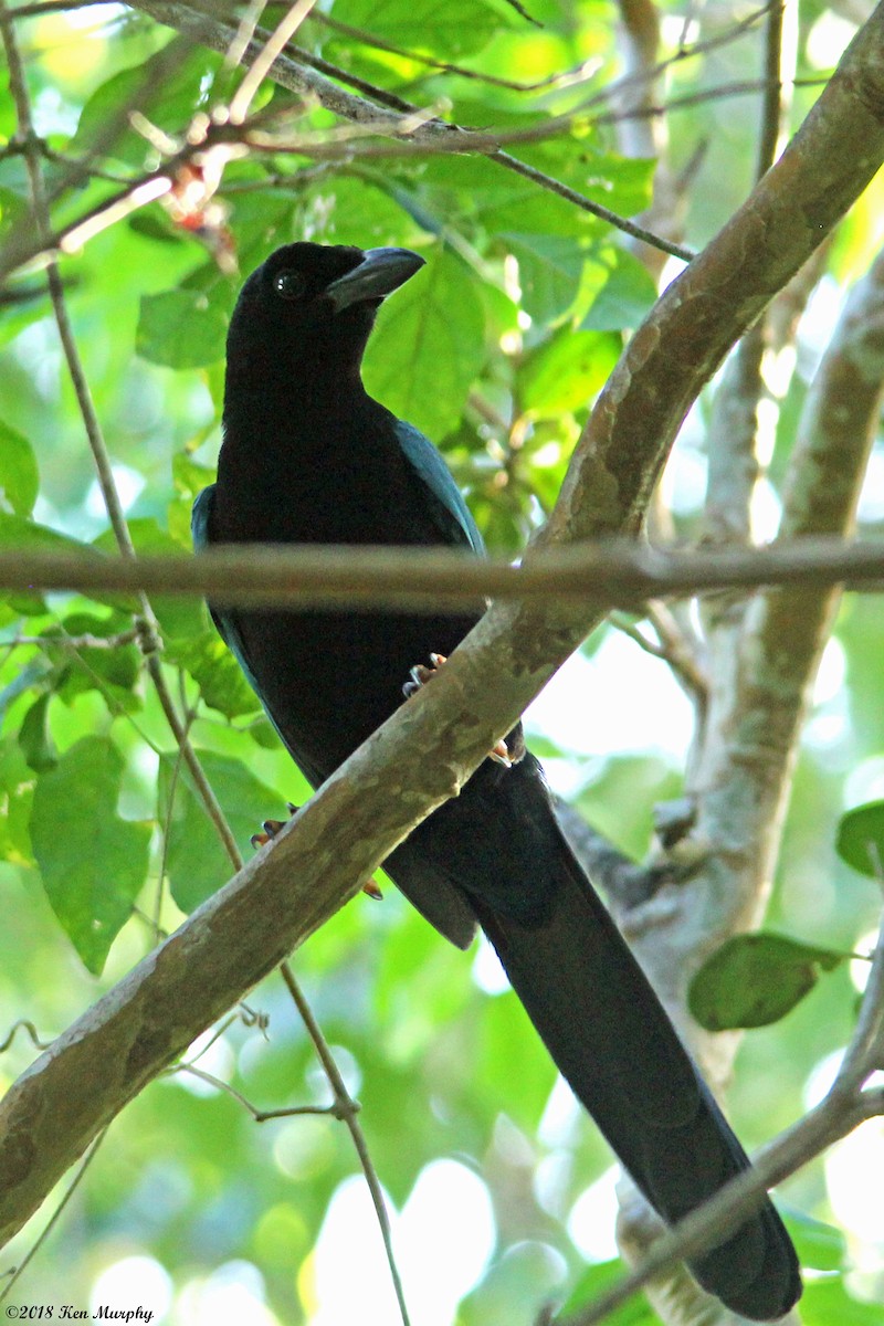
[{"label": "bird's long dark tail hanging below the diagonal branch", "polygon": [[[553,1059],[636,1185],[675,1223],[749,1166],[644,973],[562,841],[541,924],[470,899]],[[773,1204],[691,1264],[753,1321],[801,1294],[798,1260]]]}]

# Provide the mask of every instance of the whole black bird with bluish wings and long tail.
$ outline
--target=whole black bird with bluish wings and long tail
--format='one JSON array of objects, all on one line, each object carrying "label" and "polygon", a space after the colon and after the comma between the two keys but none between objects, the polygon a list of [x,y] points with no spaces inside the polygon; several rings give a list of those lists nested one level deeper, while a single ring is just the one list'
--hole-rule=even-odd
[{"label": "whole black bird with bluish wings and long tail", "polygon": [[[420,267],[407,249],[289,244],[247,280],[228,334],[217,483],[193,508],[197,548],[441,544],[481,556],[440,453],[362,385],[378,308]],[[476,622],[441,611],[212,615],[314,786],[402,703],[412,666],[449,654]],[[562,837],[521,725],[508,748],[512,768],[485,760],[384,869],[452,943],[467,948],[482,927],[559,1070],[648,1201],[676,1221],[749,1160]],[[758,1321],[801,1294],[770,1201],[691,1269]]]}]

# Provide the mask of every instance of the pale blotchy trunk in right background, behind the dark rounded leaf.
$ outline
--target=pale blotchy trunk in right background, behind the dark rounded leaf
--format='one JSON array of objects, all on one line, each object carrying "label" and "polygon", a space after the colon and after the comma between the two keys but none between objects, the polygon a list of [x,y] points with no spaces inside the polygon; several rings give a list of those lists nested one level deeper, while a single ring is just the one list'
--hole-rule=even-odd
[{"label": "pale blotchy trunk in right background, behind the dark rounded leaf", "polygon": [[[847,536],[852,529],[884,391],[883,326],[879,257],[854,289],[808,394],[790,457],[785,538]],[[838,598],[835,586],[819,585],[769,590],[747,603],[726,597],[710,625],[710,703],[691,781],[696,823],[688,855],[700,865],[687,884],[664,884],[628,918],[640,934],[644,964],[676,1017],[684,1018],[687,987],[702,959],[763,912],[798,739]],[[679,851],[685,851],[684,843]],[[693,1025],[687,1030],[708,1075],[724,1082],[738,1038],[702,1036]],[[836,1119],[844,1132],[855,1127],[855,1102]],[[811,1146],[802,1154],[810,1159],[819,1132],[810,1120],[803,1124]],[[651,1233],[644,1212],[627,1208],[620,1231],[631,1260],[641,1265]],[[681,1276],[677,1268],[648,1286],[648,1297],[673,1326],[694,1319],[694,1290]],[[716,1321],[721,1315],[720,1309],[709,1311],[717,1313]]]}]

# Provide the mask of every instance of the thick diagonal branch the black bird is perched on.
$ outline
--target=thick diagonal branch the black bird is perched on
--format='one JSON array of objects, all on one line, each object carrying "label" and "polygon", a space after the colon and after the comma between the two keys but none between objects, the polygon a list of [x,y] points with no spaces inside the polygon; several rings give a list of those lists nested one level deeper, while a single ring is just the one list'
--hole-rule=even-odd
[{"label": "thick diagonal branch the black bird is perched on", "polygon": [[[857,146],[859,145],[859,146]],[[594,411],[542,542],[637,528],[669,443],[729,345],[884,159],[884,9],[746,206],[639,329]],[[13,1085],[0,1109],[0,1236],[98,1130],[456,794],[606,603],[494,605],[282,831]]]}]

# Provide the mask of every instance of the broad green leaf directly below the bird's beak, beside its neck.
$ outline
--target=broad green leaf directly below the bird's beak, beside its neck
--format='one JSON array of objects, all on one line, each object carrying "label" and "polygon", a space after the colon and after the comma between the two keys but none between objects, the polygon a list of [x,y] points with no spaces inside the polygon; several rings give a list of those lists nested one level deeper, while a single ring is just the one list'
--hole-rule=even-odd
[{"label": "broad green leaf directly below the bird's beak, beside its neck", "polygon": [[383,305],[366,353],[366,386],[439,442],[460,420],[484,350],[476,276],[437,248],[425,269]]}]

